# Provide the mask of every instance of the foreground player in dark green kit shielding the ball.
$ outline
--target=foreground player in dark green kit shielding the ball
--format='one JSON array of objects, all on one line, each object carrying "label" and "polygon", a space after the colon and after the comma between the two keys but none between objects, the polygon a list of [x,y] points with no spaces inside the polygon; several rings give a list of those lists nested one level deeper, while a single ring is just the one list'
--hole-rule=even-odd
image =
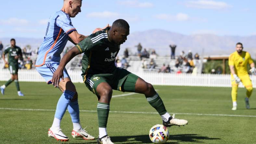
[{"label": "foreground player in dark green kit shielding the ball", "polygon": [[150,83],[126,69],[115,66],[115,58],[120,45],[127,40],[129,24],[118,19],[111,28],[91,34],[79,42],[61,59],[58,69],[53,74],[52,82],[58,86],[63,77],[65,65],[76,55],[84,53],[82,59],[82,76],[86,87],[98,97],[97,112],[99,124],[98,144],[113,144],[107,134],[112,90],[142,93],[149,104],[160,114],[164,126],[182,126],[187,121],[176,119],[167,113],[163,101]]}]

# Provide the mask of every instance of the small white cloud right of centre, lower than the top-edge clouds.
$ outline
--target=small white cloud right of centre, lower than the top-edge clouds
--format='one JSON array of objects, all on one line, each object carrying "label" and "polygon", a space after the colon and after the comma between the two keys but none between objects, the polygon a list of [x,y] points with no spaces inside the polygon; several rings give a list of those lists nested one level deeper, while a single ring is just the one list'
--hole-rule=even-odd
[{"label": "small white cloud right of centre, lower than the top-edge clouds", "polygon": [[187,21],[190,19],[189,16],[184,13],[178,13],[176,15],[159,14],[159,15],[154,15],[153,17],[162,19],[162,20],[168,20],[168,21]]}]

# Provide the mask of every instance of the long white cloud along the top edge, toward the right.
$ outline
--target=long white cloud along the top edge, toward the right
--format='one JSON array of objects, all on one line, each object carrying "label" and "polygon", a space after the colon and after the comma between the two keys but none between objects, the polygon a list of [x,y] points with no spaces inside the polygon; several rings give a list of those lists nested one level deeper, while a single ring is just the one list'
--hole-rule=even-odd
[{"label": "long white cloud along the top edge, toward the right", "polygon": [[225,2],[221,1],[213,1],[213,0],[193,0],[193,1],[186,1],[184,3],[186,7],[194,7],[194,8],[201,8],[201,9],[225,9],[232,7]]}]

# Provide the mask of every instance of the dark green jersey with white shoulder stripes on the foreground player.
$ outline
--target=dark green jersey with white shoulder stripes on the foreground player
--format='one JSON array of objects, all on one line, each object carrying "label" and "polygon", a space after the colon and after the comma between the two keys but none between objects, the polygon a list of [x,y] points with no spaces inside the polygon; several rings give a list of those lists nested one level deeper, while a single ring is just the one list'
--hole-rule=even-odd
[{"label": "dark green jersey with white shoulder stripes on the foreground player", "polygon": [[120,45],[109,41],[108,30],[97,31],[76,45],[81,54],[84,53],[83,78],[86,75],[109,74],[116,69],[115,59]]}]

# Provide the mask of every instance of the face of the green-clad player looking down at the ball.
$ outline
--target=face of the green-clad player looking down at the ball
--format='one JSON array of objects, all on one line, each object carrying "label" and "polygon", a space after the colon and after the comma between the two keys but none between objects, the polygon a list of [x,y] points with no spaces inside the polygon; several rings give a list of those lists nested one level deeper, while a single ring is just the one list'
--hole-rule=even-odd
[{"label": "face of the green-clad player looking down at the ball", "polygon": [[117,44],[123,44],[127,40],[127,36],[130,34],[130,30],[118,29],[114,35],[114,42]]}]

